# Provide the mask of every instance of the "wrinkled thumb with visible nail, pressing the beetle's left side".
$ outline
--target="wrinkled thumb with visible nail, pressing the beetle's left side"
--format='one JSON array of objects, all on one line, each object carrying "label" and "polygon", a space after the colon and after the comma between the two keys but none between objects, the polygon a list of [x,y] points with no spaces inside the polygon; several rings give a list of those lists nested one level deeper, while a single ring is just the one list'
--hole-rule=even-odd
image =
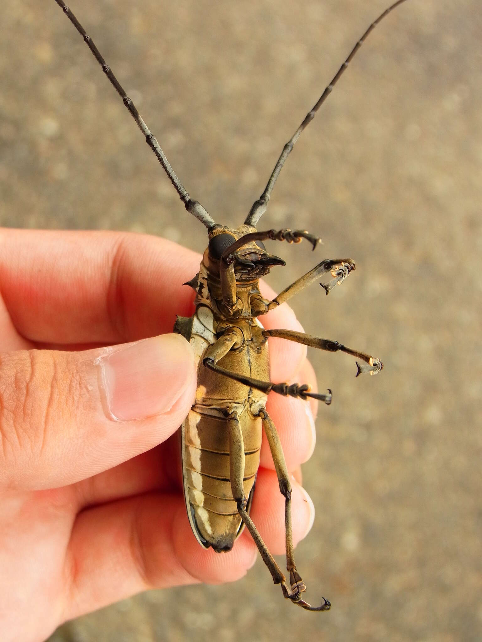
[{"label": "wrinkled thumb with visible nail, pressing the beetle's left side", "polygon": [[179,428],[195,385],[179,334],[0,354],[0,487],[64,486],[147,451]]}]

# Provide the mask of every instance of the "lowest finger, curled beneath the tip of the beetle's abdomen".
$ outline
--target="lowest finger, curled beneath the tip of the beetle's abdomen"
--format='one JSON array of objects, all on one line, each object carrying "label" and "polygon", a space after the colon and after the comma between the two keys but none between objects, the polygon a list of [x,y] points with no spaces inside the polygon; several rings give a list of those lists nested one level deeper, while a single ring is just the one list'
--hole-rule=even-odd
[{"label": "lowest finger, curled beneath the tip of the beetle's abdomen", "polygon": [[255,560],[252,540],[222,555],[199,546],[180,495],[90,508],[77,517],[67,550],[65,618],[147,589],[237,580]]}]

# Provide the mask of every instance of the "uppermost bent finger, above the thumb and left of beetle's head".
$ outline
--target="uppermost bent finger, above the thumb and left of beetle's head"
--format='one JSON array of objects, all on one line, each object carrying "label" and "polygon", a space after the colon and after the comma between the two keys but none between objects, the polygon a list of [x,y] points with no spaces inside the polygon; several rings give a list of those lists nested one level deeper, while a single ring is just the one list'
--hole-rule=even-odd
[{"label": "uppermost bent finger, above the thumb and left of beetle's head", "polygon": [[192,314],[183,283],[200,257],[127,232],[0,230],[1,295],[33,342],[123,343],[172,332]]}]

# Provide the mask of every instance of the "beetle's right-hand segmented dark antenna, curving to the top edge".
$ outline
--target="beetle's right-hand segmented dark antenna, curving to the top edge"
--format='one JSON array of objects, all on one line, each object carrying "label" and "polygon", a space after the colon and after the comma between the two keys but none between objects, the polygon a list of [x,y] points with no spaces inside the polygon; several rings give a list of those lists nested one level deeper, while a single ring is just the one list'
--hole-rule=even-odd
[{"label": "beetle's right-hand segmented dark antenna, curving to the top edge", "polygon": [[341,67],[338,69],[337,73],[333,77],[332,82],[330,82],[330,84],[327,87],[325,87],[325,91],[319,97],[316,105],[312,108],[312,110],[310,110],[308,112],[308,114],[305,116],[305,119],[303,120],[301,125],[299,125],[298,129],[296,130],[296,132],[294,132],[293,136],[290,138],[290,140],[283,147],[283,151],[281,152],[280,158],[276,162],[276,165],[274,166],[272,174],[269,177],[269,181],[267,183],[267,186],[265,187],[265,189],[264,189],[262,195],[260,196],[260,198],[258,198],[258,200],[256,200],[256,201],[254,201],[251,209],[249,210],[249,214],[247,215],[246,220],[244,221],[245,225],[253,225],[253,227],[256,227],[256,224],[258,223],[258,221],[260,220],[260,218],[263,216],[263,214],[266,211],[266,208],[268,206],[269,198],[271,196],[271,192],[272,192],[272,189],[274,187],[274,184],[276,183],[276,180],[277,180],[278,176],[280,175],[281,168],[285,164],[285,160],[289,156],[289,153],[291,152],[294,144],[296,143],[296,141],[298,141],[299,137],[301,136],[301,132],[303,132],[305,127],[307,127],[309,125],[309,123],[314,119],[317,110],[319,110],[321,105],[323,105],[323,103],[325,102],[326,98],[328,98],[328,96],[332,92],[333,87],[338,82],[341,74],[343,74],[343,72],[346,69],[346,67],[348,67],[348,64],[350,64],[350,62],[352,61],[352,58],[355,55],[355,53],[357,53],[359,48],[361,48],[363,42],[368,37],[368,34],[371,31],[373,31],[373,29],[375,29],[377,24],[379,24],[379,22],[382,21],[384,19],[384,17],[386,15],[388,15],[388,13],[390,13],[393,9],[395,9],[398,6],[398,4],[402,4],[405,1],[406,0],[398,0],[397,2],[395,2],[391,6],[389,6],[388,9],[386,9],[383,13],[381,13],[379,15],[379,17],[374,22],[372,22],[370,24],[368,29],[362,35],[361,39],[359,39],[357,44],[355,44],[355,46],[353,47],[352,51],[350,51],[350,55],[348,55],[348,58],[346,58],[346,60],[344,61],[343,65],[341,65]]}]

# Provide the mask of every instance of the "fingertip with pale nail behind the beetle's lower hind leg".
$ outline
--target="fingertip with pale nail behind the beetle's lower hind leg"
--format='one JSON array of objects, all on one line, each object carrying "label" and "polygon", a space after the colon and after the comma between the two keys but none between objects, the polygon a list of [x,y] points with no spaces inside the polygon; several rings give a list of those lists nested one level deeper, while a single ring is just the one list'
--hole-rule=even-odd
[{"label": "fingertip with pale nail behind the beetle's lower hind leg", "polygon": [[[294,476],[290,479],[291,515],[293,528],[293,543],[298,544],[306,537],[313,525],[315,509],[310,496],[299,485]],[[273,471],[260,468],[256,478],[251,519],[258,529],[263,541],[272,555],[285,553],[285,498],[281,495],[278,478]],[[251,539],[249,532],[242,537]],[[235,545],[236,546],[236,545]]]}]

